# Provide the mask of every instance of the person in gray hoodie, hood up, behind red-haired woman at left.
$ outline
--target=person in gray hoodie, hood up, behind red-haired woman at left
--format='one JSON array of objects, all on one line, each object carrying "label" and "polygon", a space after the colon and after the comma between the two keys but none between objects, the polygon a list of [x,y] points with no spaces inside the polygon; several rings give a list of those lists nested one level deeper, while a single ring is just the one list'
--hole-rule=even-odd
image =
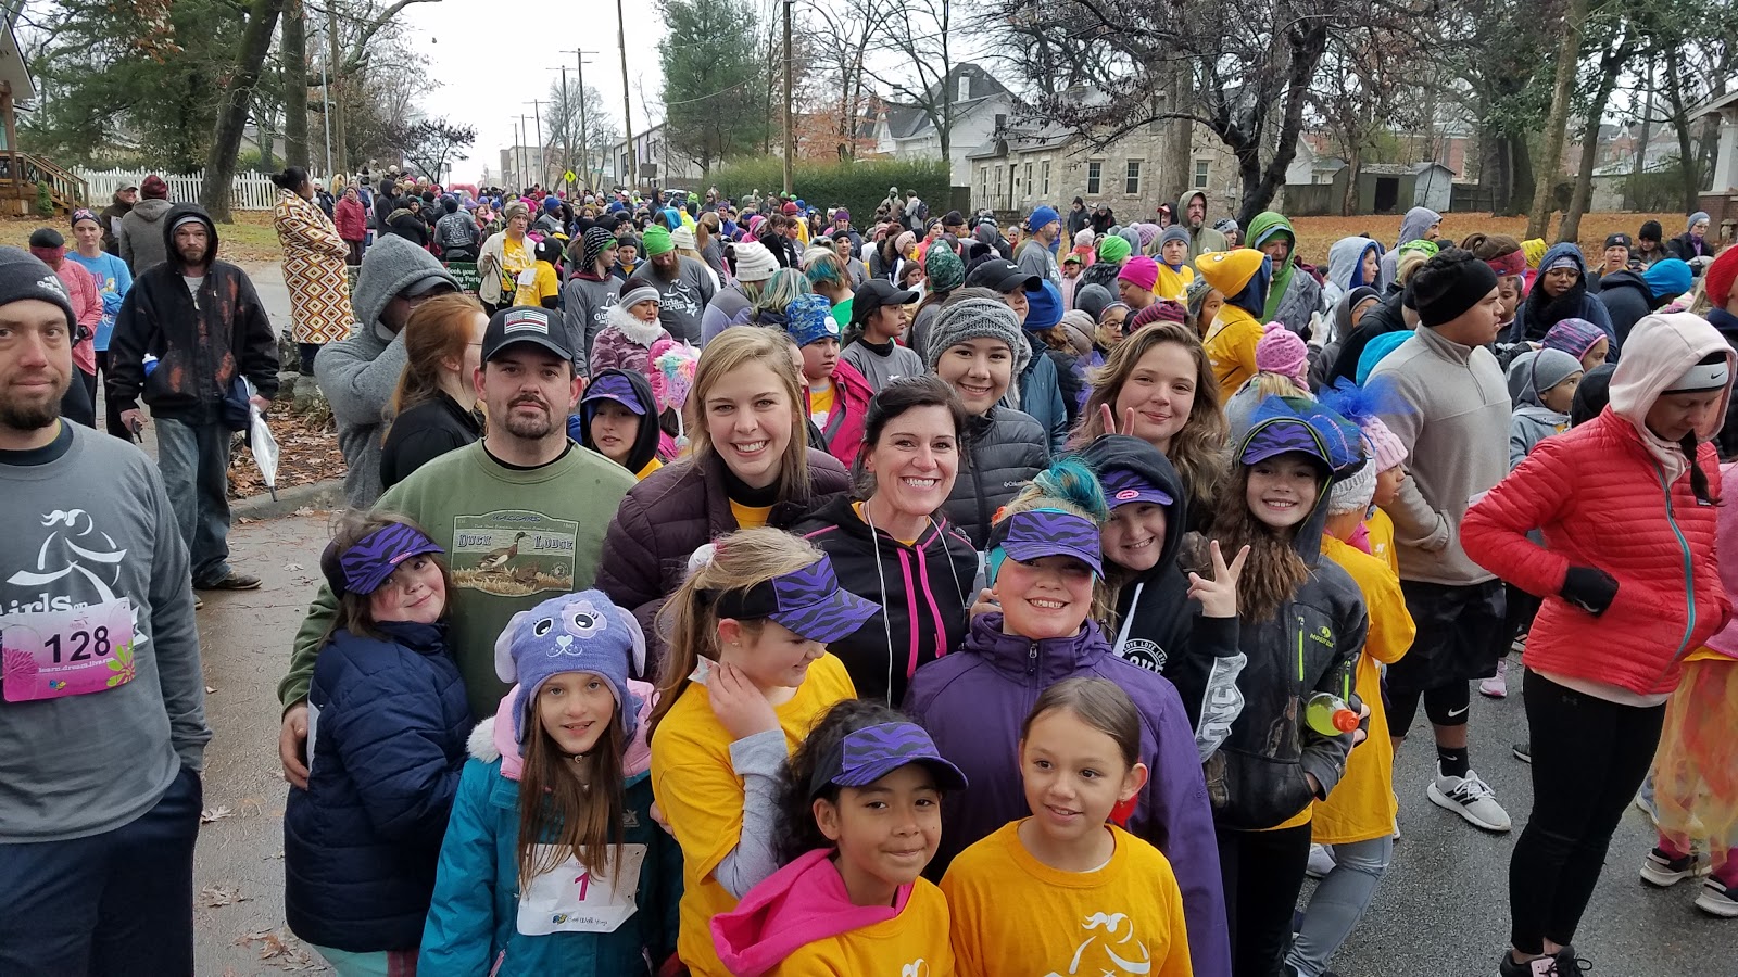
[{"label": "person in gray hoodie, hood up, behind red-haired woman at left", "polygon": [[379,238],[362,259],[349,296],[356,325],[349,339],[328,342],[315,358],[315,381],[337,419],[351,508],[367,509],[381,497],[381,426],[405,372],[405,320],[424,301],[457,290],[434,256],[405,238]]}]

